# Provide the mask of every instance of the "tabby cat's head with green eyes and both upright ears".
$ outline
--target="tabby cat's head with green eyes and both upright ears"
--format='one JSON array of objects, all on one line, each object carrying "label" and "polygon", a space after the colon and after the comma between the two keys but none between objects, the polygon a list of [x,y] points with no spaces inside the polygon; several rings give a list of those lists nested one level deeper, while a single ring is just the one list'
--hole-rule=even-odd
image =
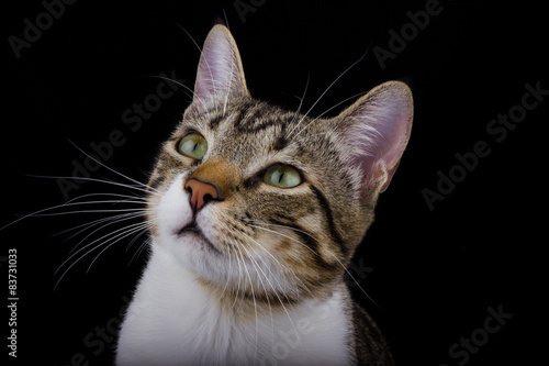
[{"label": "tabby cat's head with green eyes and both upright ears", "polygon": [[154,249],[225,295],[279,302],[329,292],[373,220],[412,117],[397,81],[332,119],[254,99],[233,36],[215,25],[192,103],[150,176]]}]

